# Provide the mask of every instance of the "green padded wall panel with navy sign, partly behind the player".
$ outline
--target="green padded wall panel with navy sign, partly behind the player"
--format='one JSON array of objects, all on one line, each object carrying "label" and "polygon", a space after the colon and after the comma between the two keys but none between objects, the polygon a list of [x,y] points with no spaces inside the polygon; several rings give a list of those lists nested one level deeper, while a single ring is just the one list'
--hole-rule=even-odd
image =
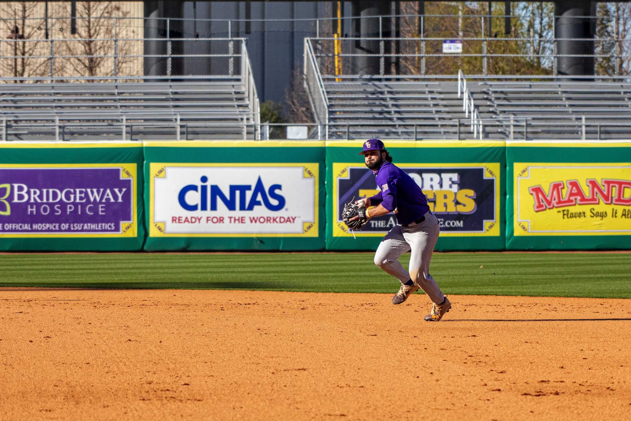
[{"label": "green padded wall panel with navy sign, partly behind the player", "polygon": [[[440,223],[436,250],[504,248],[504,142],[385,141],[393,163],[410,174]],[[348,231],[344,204],[379,192],[359,142],[327,142],[327,249],[375,250],[396,216]]]}]

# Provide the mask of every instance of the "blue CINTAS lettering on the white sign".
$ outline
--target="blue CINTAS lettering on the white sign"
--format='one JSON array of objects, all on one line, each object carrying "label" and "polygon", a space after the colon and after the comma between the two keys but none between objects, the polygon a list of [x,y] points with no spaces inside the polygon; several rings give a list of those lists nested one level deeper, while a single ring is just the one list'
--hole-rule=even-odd
[{"label": "blue CINTAS lettering on the white sign", "polygon": [[256,206],[265,206],[269,210],[277,211],[285,207],[285,197],[278,193],[283,190],[283,186],[273,184],[266,189],[261,176],[254,186],[251,184],[231,184],[228,187],[228,192],[221,190],[218,185],[206,184],[208,183],[206,176],[202,176],[199,181],[201,184],[186,185],[178,193],[177,200],[183,209],[190,211],[217,210],[219,201],[228,210],[254,210]]}]

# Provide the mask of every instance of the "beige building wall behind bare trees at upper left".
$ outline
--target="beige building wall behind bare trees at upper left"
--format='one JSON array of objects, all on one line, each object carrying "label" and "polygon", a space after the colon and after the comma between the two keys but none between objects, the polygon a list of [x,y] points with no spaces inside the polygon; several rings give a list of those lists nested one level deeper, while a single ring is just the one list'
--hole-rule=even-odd
[{"label": "beige building wall behind bare trees at upper left", "polygon": [[143,2],[78,1],[76,34],[70,3],[48,4],[0,3],[0,77],[143,75]]}]

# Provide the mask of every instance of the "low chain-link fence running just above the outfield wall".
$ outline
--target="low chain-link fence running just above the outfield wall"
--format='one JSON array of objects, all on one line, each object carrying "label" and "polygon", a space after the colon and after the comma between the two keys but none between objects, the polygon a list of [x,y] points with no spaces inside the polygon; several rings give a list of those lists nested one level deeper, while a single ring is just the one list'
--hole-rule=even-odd
[{"label": "low chain-link fence running just above the outfield wall", "polygon": [[621,140],[631,139],[631,123],[597,123],[558,119],[444,119],[435,123],[357,123],[317,125],[292,123],[26,123],[0,121],[0,140],[355,140],[377,137],[404,140]]}]

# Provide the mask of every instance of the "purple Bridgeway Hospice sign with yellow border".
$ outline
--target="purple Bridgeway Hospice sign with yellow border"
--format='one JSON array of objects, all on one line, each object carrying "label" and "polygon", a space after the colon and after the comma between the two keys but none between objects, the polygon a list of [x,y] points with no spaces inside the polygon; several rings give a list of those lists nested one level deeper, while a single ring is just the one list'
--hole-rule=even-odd
[{"label": "purple Bridgeway Hospice sign with yellow border", "polygon": [[0,236],[136,235],[136,164],[0,164]]}]

